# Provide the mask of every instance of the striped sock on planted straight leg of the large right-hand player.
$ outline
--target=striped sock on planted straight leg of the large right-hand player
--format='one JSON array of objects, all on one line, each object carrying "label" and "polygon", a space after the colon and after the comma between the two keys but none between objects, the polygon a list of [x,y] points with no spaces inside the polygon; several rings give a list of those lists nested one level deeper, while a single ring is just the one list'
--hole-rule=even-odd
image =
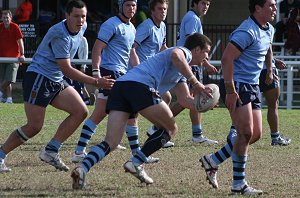
[{"label": "striped sock on planted straight leg of the large right-hand player", "polygon": [[246,183],[245,168],[247,163],[247,156],[238,156],[232,153],[233,164],[233,181],[232,186],[241,186]]}]

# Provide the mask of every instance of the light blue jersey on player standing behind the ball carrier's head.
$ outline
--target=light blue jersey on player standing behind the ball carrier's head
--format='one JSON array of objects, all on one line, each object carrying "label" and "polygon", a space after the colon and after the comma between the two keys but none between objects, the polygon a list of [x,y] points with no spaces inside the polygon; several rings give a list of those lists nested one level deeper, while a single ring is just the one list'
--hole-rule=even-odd
[{"label": "light blue jersey on player standing behind the ball carrier's head", "polygon": [[190,10],[184,15],[180,23],[177,46],[184,46],[186,37],[195,32],[203,34],[202,23],[195,11]]}]

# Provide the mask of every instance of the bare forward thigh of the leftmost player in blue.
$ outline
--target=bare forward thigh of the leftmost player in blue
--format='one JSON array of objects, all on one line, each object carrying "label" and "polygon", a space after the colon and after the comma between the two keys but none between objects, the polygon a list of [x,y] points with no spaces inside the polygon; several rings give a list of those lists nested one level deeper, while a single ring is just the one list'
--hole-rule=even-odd
[{"label": "bare forward thigh of the leftmost player in blue", "polygon": [[70,114],[86,116],[88,113],[86,104],[78,92],[71,86],[66,87],[57,94],[51,105]]}]

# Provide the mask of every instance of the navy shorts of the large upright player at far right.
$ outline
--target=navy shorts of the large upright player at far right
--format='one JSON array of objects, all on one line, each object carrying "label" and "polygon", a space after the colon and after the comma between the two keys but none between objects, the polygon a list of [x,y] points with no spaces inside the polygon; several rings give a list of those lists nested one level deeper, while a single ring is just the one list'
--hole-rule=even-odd
[{"label": "navy shorts of the large upright player at far right", "polygon": [[[237,107],[241,107],[251,102],[252,109],[261,109],[261,93],[258,85],[251,85],[248,83],[234,82],[236,92],[242,101],[240,104],[238,101],[236,103]],[[226,105],[226,89],[224,84],[224,79],[220,80],[219,84],[220,97],[223,103]]]}]

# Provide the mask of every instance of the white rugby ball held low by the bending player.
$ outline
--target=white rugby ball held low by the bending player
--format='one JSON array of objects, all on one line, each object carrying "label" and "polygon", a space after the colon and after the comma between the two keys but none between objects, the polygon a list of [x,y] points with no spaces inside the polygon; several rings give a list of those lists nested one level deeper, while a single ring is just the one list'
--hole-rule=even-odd
[{"label": "white rugby ball held low by the bending player", "polygon": [[220,99],[219,87],[216,84],[207,84],[205,87],[212,89],[212,98],[209,98],[206,94],[200,93],[194,96],[195,107],[198,112],[206,112],[214,108]]}]

